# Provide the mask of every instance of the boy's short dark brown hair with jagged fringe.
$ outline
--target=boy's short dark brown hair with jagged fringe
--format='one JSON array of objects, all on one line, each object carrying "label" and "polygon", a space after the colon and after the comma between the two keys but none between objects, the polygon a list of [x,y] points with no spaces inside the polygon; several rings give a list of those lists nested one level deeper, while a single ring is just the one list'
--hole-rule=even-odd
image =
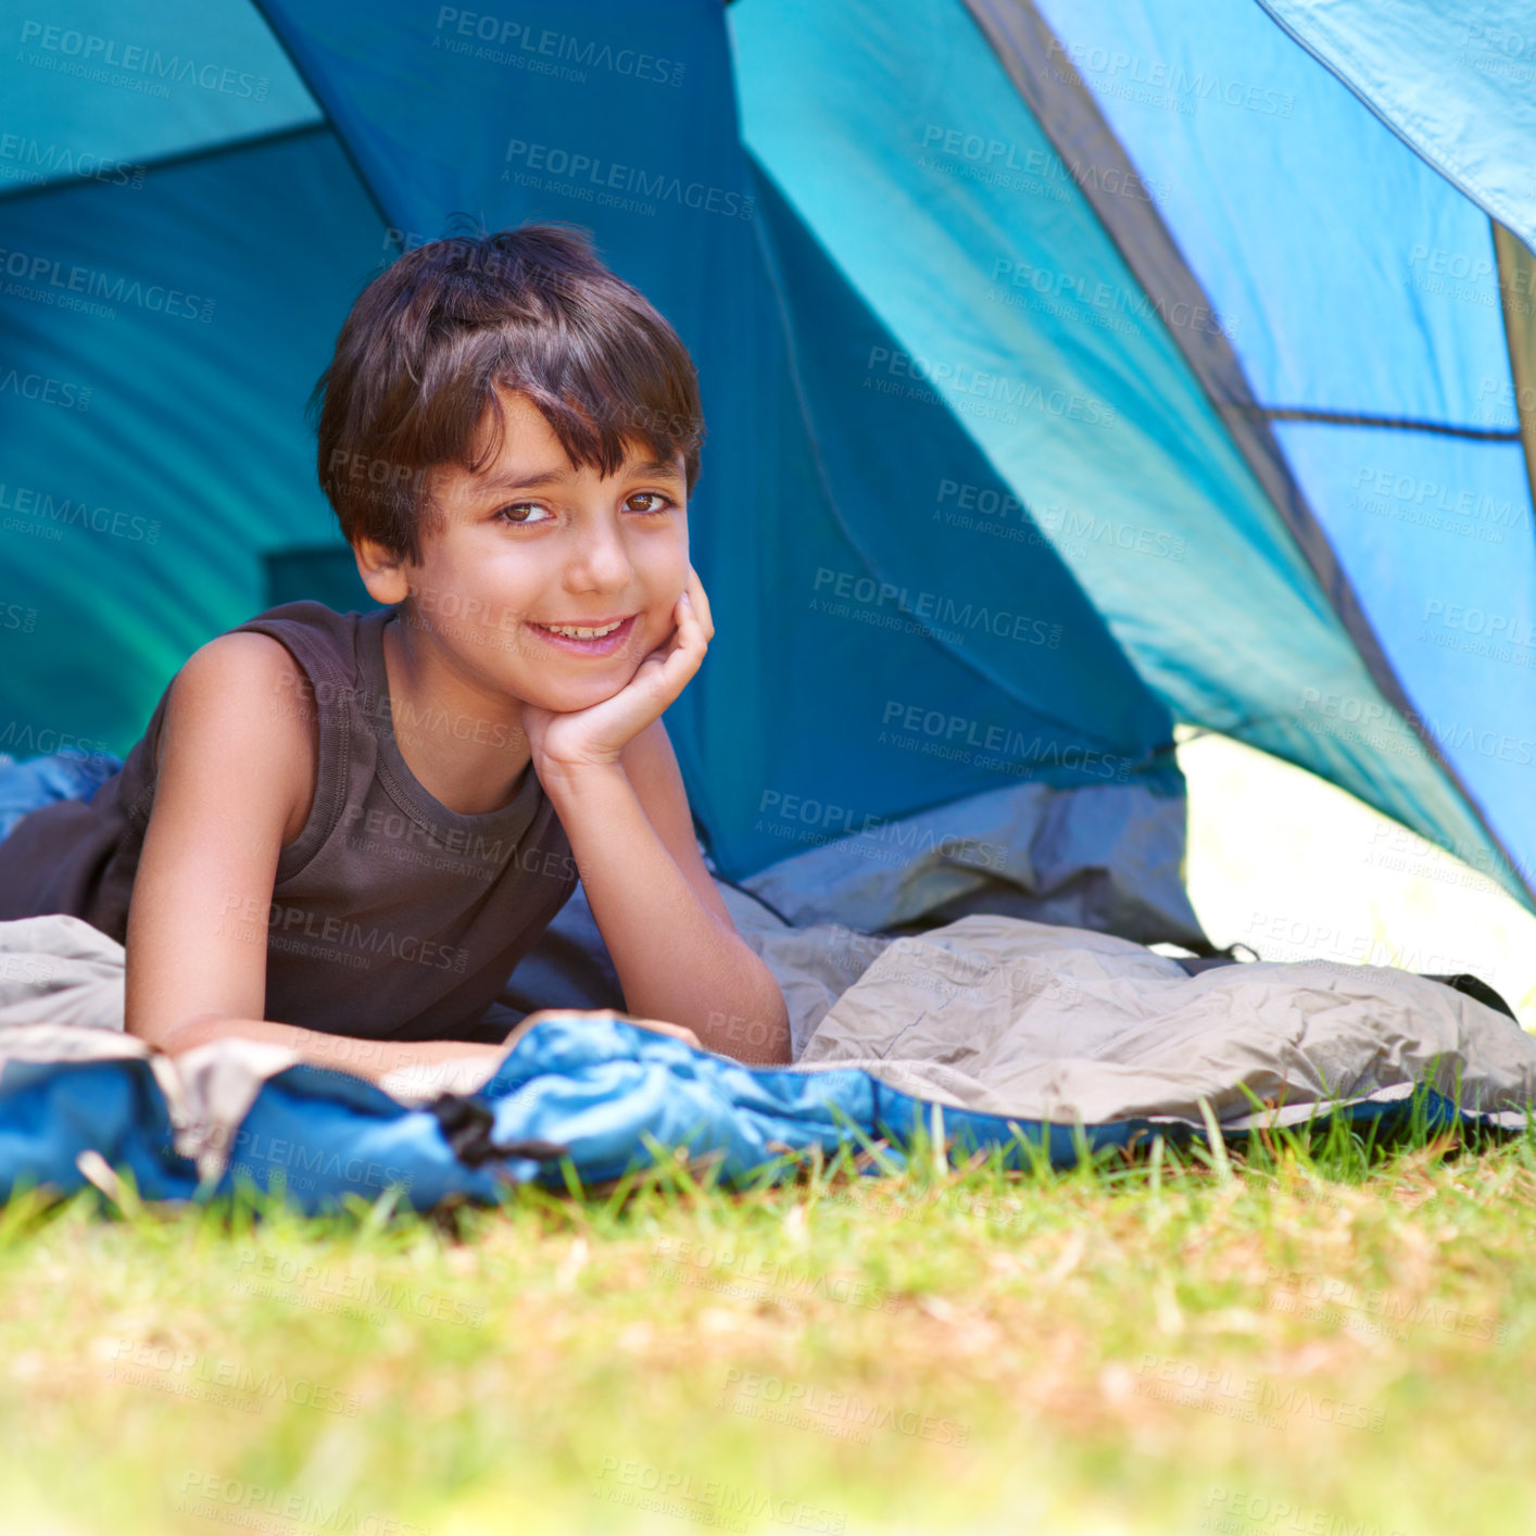
[{"label": "boy's short dark brown hair with jagged fringe", "polygon": [[691,495],[703,413],[688,349],[598,260],[588,230],[524,224],[419,246],[352,306],[309,399],[319,484],[349,544],[421,559],[422,531],[442,522],[427,472],[473,473],[501,452],[498,384],[539,409],[578,467],[611,475],[636,445],[665,462],[682,453]]}]

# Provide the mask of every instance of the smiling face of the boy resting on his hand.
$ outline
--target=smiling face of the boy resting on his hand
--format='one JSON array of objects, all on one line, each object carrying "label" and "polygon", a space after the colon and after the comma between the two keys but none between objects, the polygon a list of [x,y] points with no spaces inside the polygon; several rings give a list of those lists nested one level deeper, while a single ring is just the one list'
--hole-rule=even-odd
[{"label": "smiling face of the boy resting on his hand", "polygon": [[[574,468],[528,399],[499,390],[501,455],[479,475],[439,465],[445,525],[404,565],[416,627],[492,691],[561,713],[613,697],[671,637],[688,582],[682,455],[619,473]],[[551,627],[610,630],[562,636]]]}]

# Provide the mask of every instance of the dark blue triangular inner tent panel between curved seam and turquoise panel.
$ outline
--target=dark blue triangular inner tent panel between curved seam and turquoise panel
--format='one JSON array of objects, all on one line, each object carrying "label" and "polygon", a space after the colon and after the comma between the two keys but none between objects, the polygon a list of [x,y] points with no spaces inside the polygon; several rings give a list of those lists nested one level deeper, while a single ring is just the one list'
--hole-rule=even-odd
[{"label": "dark blue triangular inner tent panel between curved seam and turquoise panel", "polygon": [[[1167,707],[1132,670],[954,412],[929,390],[869,387],[879,379],[879,362],[871,373],[869,359],[894,355],[895,338],[773,183],[763,183],[760,203],[817,465],[860,550],[860,568],[880,584],[865,601],[840,573],[806,570],[802,590],[820,614],[816,627],[826,628],[833,617],[886,633],[928,631],[934,647],[991,687],[971,685],[957,696],[952,679],[940,687],[925,654],[919,671],[903,668],[905,696],[925,710],[954,711],[968,697],[980,702],[995,691],[994,708],[1005,707],[1015,725],[1032,717],[1063,746],[1112,757],[1123,780],[1132,762],[1172,743]],[[791,610],[783,622],[788,628],[816,621]],[[860,707],[883,714],[889,700],[871,696]],[[986,780],[957,773],[955,782]]]}]

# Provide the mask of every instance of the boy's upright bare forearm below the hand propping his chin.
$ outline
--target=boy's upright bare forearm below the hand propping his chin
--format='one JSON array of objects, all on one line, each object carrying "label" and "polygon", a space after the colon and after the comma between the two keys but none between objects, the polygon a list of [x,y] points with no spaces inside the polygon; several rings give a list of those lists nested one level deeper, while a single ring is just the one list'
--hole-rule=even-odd
[{"label": "boy's upright bare forearm below the hand propping his chin", "polygon": [[790,1060],[773,972],[705,906],[667,851],[622,763],[545,785],[570,839],[625,1006],[693,1029],[739,1061]]}]

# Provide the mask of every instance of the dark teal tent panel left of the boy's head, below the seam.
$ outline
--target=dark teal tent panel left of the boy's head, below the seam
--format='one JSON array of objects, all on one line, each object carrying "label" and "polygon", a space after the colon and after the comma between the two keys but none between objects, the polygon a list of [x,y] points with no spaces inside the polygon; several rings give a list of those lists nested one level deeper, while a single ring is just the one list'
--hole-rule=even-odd
[{"label": "dark teal tent panel left of the boy's head, below the seam", "polygon": [[0,244],[101,278],[80,309],[8,304],[0,751],[123,753],[187,654],[266,607],[264,553],[338,538],[304,401],[382,229],[319,129],[131,197],[0,201]]}]

